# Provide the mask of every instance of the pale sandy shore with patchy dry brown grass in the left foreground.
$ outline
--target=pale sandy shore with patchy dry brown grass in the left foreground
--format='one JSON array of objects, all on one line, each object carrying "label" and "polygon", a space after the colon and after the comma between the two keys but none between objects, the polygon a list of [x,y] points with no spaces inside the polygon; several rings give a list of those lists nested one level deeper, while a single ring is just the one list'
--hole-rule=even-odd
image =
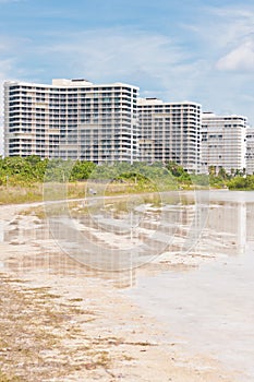
[{"label": "pale sandy shore with patchy dry brown grass in the left foreground", "polygon": [[25,208],[0,207],[0,381],[241,380],[209,355],[189,354],[184,338],[170,341],[121,293],[130,274],[73,261]]}]

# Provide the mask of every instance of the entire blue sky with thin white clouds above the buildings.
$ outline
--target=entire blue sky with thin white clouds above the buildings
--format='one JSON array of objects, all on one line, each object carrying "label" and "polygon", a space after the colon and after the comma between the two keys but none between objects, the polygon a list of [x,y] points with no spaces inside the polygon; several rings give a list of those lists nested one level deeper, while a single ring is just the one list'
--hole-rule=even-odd
[{"label": "entire blue sky with thin white clouds above the buildings", "polygon": [[253,0],[0,0],[0,124],[4,81],[57,77],[130,83],[254,127]]}]

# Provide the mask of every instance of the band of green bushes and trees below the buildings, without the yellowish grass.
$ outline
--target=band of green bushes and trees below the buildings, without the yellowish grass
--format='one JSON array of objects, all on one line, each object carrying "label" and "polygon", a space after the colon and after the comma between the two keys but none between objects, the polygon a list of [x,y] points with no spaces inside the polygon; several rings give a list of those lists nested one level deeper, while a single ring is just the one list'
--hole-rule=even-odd
[{"label": "band of green bushes and trees below the buildings, without the yellowish grass", "polygon": [[167,165],[155,163],[105,164],[98,166],[86,160],[41,159],[32,155],[27,157],[0,157],[0,186],[33,184],[45,181],[76,182],[87,179],[110,179],[116,182],[156,183],[157,187],[169,189],[191,187],[215,187],[235,190],[254,190],[254,175],[245,171],[227,174],[220,168],[218,174],[209,167],[209,175],[189,174],[174,162]]}]

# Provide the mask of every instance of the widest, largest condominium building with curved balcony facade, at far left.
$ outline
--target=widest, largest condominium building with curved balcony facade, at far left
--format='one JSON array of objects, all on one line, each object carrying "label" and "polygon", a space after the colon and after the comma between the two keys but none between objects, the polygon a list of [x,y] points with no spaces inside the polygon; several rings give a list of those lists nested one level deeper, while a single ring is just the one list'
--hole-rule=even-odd
[{"label": "widest, largest condominium building with curved balcony facade, at far left", "polygon": [[4,155],[138,159],[138,87],[86,80],[4,83]]}]

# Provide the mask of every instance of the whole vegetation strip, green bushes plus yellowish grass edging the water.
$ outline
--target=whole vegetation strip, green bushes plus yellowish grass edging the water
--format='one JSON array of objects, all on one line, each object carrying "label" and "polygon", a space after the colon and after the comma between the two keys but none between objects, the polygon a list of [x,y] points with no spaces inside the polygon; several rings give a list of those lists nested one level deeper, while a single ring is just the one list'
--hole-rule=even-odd
[{"label": "whole vegetation strip, green bushes plus yellowish grass edging the water", "polygon": [[[231,190],[254,190],[254,176],[223,168],[216,174],[213,166],[208,175],[189,174],[174,162],[117,163],[97,166],[85,160],[40,159],[38,156],[0,157],[0,203],[41,201],[44,184],[51,182],[53,199],[59,188],[66,186],[64,195],[84,198],[86,188],[96,189],[98,194],[158,192],[177,189],[229,188]],[[56,184],[56,186],[53,186]]]}]

